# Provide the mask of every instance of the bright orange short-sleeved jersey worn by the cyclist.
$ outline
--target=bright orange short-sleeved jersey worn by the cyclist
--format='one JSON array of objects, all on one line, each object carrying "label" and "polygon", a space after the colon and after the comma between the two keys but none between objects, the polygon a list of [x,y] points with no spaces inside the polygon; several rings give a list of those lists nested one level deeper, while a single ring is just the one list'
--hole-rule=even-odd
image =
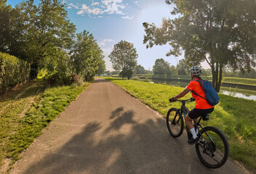
[{"label": "bright orange short-sleeved jersey worn by the cyclist", "polygon": [[[199,80],[196,78],[196,80]],[[200,84],[195,81],[191,80],[191,82],[187,86],[188,89],[191,91],[195,91],[196,94],[199,94],[200,96],[205,97],[204,95],[204,90],[201,88]],[[202,99],[200,96],[196,96],[195,94],[192,93],[192,96],[194,99],[196,99],[196,109],[210,109],[212,108],[212,105],[210,105],[205,99]]]}]

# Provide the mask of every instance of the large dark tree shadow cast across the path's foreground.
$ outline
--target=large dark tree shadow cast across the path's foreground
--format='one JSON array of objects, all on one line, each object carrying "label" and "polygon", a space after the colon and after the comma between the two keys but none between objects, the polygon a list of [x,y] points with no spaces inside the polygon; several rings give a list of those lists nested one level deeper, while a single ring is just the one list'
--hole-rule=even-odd
[{"label": "large dark tree shadow cast across the path's foreground", "polygon": [[108,126],[88,123],[25,173],[221,173],[201,165],[185,134],[170,137],[161,118],[137,120],[135,111],[118,107],[106,119]]}]

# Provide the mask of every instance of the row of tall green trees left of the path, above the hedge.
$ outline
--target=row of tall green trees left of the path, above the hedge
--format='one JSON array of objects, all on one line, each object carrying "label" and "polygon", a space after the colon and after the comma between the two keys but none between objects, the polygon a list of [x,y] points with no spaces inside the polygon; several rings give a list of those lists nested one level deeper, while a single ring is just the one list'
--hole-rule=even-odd
[{"label": "row of tall green trees left of the path, above the hedge", "polygon": [[105,68],[103,51],[92,34],[76,34],[65,5],[57,0],[23,1],[15,8],[0,0],[0,51],[31,63],[31,78],[47,69],[48,78],[70,83],[73,74],[90,80]]}]

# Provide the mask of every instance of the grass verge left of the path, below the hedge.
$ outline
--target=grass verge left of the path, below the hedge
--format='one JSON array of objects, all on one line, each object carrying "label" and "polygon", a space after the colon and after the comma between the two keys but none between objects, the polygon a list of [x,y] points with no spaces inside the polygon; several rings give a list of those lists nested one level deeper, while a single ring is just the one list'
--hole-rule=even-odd
[{"label": "grass verge left of the path, below the hedge", "polygon": [[0,165],[3,165],[4,159],[11,159],[10,166],[19,159],[20,152],[27,149],[34,138],[41,134],[41,130],[63,112],[87,86],[89,83],[82,86],[43,88],[40,93],[40,86],[34,86],[17,99],[12,97],[14,94],[2,99]]}]

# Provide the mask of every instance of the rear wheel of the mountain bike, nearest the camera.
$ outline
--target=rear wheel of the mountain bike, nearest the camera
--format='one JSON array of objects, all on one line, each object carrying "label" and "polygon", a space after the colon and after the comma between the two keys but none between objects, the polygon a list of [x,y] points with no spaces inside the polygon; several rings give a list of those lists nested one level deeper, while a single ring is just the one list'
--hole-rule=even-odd
[{"label": "rear wheel of the mountain bike, nearest the camera", "polygon": [[[196,144],[196,154],[200,161],[209,168],[223,166],[228,160],[229,155],[228,139],[222,131],[212,126],[202,128],[201,135],[203,135],[204,141],[202,136],[199,136],[200,142]],[[215,164],[211,164],[210,162],[214,162]]]}]

